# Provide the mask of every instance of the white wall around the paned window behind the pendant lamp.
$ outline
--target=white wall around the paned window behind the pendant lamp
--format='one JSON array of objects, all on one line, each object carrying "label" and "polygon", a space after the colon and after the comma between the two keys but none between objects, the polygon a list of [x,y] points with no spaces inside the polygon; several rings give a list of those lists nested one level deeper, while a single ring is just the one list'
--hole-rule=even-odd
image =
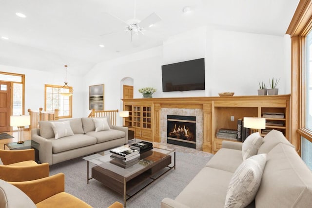
[{"label": "white wall around the paned window behind the pendant lamp", "polygon": [[[65,81],[65,74],[63,73],[43,72],[5,65],[0,65],[0,71],[25,75],[25,114],[28,114],[27,109],[39,110],[40,107],[44,108],[44,84],[63,85]],[[82,77],[69,75],[67,71],[67,81],[69,86],[74,89],[73,117],[86,116],[81,105],[85,98],[81,93],[84,87],[81,85]]]}]

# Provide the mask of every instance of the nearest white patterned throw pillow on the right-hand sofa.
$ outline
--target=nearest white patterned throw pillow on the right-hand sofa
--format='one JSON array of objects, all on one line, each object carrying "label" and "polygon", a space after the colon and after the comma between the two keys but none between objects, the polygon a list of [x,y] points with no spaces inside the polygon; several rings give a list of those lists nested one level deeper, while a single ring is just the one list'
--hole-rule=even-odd
[{"label": "nearest white patterned throw pillow on the right-hand sofa", "polygon": [[238,166],[229,184],[225,208],[244,208],[254,200],[266,162],[267,154],[257,154]]}]

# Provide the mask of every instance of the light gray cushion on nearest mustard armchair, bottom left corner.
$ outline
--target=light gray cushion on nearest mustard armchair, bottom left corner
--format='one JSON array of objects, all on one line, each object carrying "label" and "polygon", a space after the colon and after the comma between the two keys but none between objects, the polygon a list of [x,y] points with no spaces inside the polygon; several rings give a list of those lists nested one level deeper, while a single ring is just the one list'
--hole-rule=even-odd
[{"label": "light gray cushion on nearest mustard armchair, bottom left corner", "polygon": [[0,179],[0,208],[36,208],[19,188]]}]

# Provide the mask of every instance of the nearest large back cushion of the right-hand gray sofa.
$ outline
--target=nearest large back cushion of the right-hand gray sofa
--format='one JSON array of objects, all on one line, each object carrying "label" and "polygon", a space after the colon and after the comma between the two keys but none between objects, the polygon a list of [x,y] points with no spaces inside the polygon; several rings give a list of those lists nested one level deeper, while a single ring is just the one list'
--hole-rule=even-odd
[{"label": "nearest large back cushion of the right-hand gray sofa", "polygon": [[280,208],[311,207],[311,170],[290,145],[279,143],[268,152],[255,205]]}]

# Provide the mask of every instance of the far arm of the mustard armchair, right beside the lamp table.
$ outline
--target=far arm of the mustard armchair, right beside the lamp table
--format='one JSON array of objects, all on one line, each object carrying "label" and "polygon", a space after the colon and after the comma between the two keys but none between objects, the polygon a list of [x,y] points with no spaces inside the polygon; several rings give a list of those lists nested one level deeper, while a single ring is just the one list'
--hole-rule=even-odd
[{"label": "far arm of the mustard armchair, right beside the lamp table", "polygon": [[9,165],[12,163],[18,163],[26,160],[35,160],[35,150],[0,150],[0,158],[4,165]]}]

